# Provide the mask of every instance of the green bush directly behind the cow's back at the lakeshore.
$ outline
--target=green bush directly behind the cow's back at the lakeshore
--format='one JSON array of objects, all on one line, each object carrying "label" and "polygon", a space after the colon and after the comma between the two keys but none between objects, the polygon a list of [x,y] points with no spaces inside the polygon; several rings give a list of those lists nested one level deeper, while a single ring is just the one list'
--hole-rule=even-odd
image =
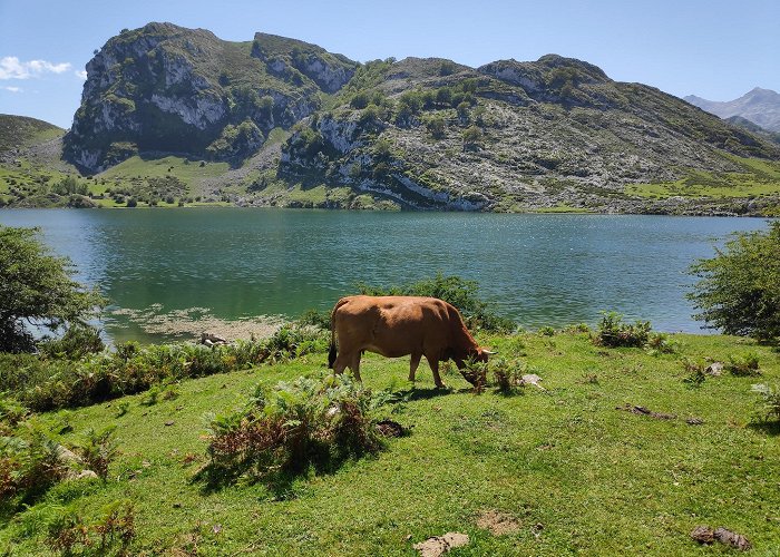
[{"label": "green bush directly behind the cow's back at the lakeshore", "polygon": [[380,287],[358,283],[357,287],[361,294],[371,296],[438,297],[457,307],[469,329],[509,332],[516,326],[513,321],[498,315],[491,304],[477,296],[476,281],[467,281],[460,276],[445,276],[437,273],[433,278],[423,278],[404,286]]}]

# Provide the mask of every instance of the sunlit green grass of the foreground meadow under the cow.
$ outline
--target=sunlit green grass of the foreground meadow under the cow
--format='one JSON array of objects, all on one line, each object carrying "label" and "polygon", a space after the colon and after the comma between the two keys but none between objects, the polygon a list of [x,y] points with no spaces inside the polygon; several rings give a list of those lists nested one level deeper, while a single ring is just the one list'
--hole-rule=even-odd
[{"label": "sunlit green grass of the foreground meadow under the cow", "polygon": [[[176,555],[195,544],[203,555],[411,556],[413,543],[450,530],[471,537],[451,555],[729,553],[689,538],[705,524],[745,535],[755,555],[776,555],[780,434],[751,422],[758,397],[750,388],[780,381],[780,356],[734,338],[674,339],[677,353],[664,355],[597,348],[583,334],[481,339],[544,378],[546,391],[525,388],[515,397],[491,389],[476,395],[451,373],[445,381],[452,389],[437,391],[427,368],[411,391],[408,358],[367,354],[364,382],[399,393],[401,401],[383,412],[412,433],[390,440],[374,458],[310,473],[281,491],[257,483],[207,494],[191,481],[206,461],[202,417],[241,408],[259,382],[326,372],[325,354],[186,381],[178,398],[150,407],[139,394],[43,414],[43,422],[70,423],[66,442],[116,423],[121,455],[105,485],[60,485],[0,522],[0,551],[46,553],[41,531],[58,507],[92,519],[106,504],[130,498],[131,553],[146,555]],[[683,358],[728,362],[749,352],[759,355],[763,377],[724,374],[698,389],[683,381]],[[123,402],[129,411],[117,418]],[[626,403],[679,418],[616,410]],[[704,423],[688,426],[689,417]],[[519,530],[494,537],[479,529],[476,517],[485,509],[514,517]]]}]

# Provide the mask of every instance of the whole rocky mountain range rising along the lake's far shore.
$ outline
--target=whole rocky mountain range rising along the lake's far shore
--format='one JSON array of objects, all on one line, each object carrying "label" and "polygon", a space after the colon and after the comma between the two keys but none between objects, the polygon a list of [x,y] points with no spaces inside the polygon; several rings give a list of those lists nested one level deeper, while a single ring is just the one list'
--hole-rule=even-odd
[{"label": "whole rocky mountain range rising along the lake's far shore", "polygon": [[[582,60],[359,63],[300,40],[256,33],[231,42],[172,23],[125,30],[89,61],[64,155],[98,173],[95,192],[149,204],[189,196],[685,214],[780,206],[780,147],[770,137]],[[149,165],[158,178],[137,185]],[[167,189],[158,186],[163,165]]]}]

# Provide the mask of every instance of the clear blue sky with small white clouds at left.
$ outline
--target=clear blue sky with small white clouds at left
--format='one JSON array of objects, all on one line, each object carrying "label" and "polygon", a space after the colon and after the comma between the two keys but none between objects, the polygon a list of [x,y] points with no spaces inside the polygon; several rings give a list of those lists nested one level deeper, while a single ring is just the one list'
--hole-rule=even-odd
[{"label": "clear blue sky with small white clouds at left", "polygon": [[149,21],[282,35],[359,61],[557,53],[679,97],[780,91],[780,0],[0,0],[0,114],[70,127],[92,51]]}]

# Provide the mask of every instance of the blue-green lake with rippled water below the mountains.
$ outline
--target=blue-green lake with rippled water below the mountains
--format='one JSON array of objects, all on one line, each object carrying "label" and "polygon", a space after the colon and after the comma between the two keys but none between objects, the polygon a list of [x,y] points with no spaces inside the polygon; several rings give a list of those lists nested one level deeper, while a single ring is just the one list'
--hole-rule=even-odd
[{"label": "blue-green lake with rippled water below the mountains", "polygon": [[298,316],[332,307],[358,282],[437,272],[477,281],[526,328],[593,324],[615,310],[656,330],[700,332],[684,297],[689,265],[730,233],[767,228],[754,218],[227,207],[3,209],[0,224],[40,226],[78,278],[100,287],[115,341],[174,338],[175,321]]}]

